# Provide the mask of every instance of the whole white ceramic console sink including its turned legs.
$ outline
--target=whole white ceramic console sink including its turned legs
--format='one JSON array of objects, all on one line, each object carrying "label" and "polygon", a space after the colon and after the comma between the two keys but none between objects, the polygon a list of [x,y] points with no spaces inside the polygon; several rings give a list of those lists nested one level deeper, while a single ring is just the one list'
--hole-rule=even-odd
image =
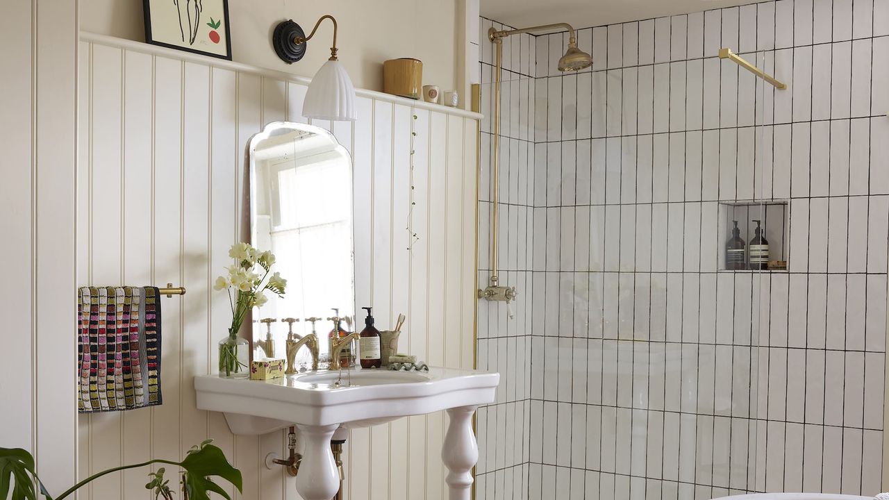
[{"label": "whole white ceramic console sink including its turned legs", "polygon": [[428,372],[319,370],[268,381],[195,377],[197,407],[225,414],[236,434],[264,434],[295,424],[304,450],[296,489],[330,500],[340,486],[330,448],[333,431],[447,410],[442,448],[451,500],[469,500],[478,459],[472,414],[492,403],[500,374],[430,367]]}]

